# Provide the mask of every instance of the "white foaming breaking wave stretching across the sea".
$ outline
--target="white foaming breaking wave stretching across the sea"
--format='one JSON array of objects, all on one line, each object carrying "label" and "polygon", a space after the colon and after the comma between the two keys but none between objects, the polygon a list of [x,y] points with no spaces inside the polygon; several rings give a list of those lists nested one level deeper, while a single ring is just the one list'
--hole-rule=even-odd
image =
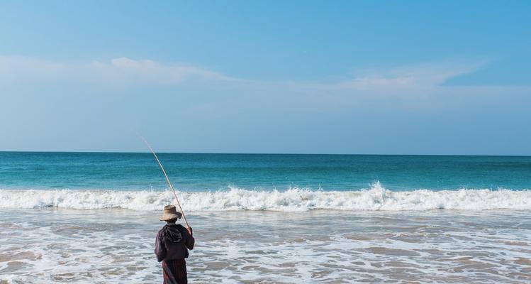
[{"label": "white foaming breaking wave stretching across the sea", "polygon": [[[215,192],[179,192],[189,211],[272,210],[430,210],[531,209],[531,190],[386,190],[379,182],[368,190],[324,191],[291,188]],[[169,191],[0,190],[0,208],[59,207],[160,210],[173,202]]]}]

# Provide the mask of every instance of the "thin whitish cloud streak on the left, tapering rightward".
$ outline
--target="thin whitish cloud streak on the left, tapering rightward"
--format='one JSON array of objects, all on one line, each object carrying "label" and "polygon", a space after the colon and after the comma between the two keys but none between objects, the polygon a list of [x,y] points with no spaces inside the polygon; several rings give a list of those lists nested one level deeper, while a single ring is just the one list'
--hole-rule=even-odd
[{"label": "thin whitish cloud streak on the left, tapering rightward", "polygon": [[220,72],[191,65],[165,65],[152,60],[115,58],[110,62],[57,62],[0,56],[0,82],[99,82],[106,84],[179,84],[185,80],[233,81]]}]

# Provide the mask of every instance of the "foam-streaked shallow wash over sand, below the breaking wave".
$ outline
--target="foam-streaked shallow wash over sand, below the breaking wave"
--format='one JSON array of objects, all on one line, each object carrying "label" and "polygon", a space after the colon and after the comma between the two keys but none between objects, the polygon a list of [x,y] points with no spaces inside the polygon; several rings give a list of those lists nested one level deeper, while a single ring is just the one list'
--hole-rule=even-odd
[{"label": "foam-streaked shallow wash over sand, below the breaking wave", "polygon": [[[160,283],[159,212],[3,209],[0,283]],[[189,212],[191,283],[530,283],[524,211]]]}]

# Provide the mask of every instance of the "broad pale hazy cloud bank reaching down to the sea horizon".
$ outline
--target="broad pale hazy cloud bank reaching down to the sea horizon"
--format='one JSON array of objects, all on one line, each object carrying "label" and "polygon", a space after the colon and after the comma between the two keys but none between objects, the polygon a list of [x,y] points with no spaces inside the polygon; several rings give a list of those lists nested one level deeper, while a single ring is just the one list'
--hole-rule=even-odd
[{"label": "broad pale hazy cloud bank reaching down to the sea horizon", "polygon": [[[271,144],[274,151],[301,152],[322,143],[348,144],[337,151],[357,152],[374,140],[380,146],[372,149],[388,153],[395,136],[423,146],[430,136],[423,131],[434,129],[432,135],[442,133],[437,137],[454,141],[466,131],[448,129],[467,123],[473,129],[474,121],[485,128],[513,127],[515,135],[507,137],[520,137],[529,116],[529,86],[445,84],[484,64],[447,60],[365,70],[335,82],[264,82],[152,60],[0,56],[0,129],[11,139],[0,142],[6,149],[95,149],[96,137],[105,148],[110,139],[124,141],[131,129],[160,135],[173,149],[188,145],[191,151],[252,152]],[[47,146],[35,137],[45,137]],[[421,142],[415,143],[415,137]],[[315,148],[308,146],[312,143]]]}]

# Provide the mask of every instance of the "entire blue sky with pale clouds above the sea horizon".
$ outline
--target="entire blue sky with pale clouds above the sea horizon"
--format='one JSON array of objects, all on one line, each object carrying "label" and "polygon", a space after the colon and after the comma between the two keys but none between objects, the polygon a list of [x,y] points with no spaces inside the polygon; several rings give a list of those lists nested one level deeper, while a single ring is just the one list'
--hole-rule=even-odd
[{"label": "entire blue sky with pale clouds above the sea horizon", "polygon": [[0,150],[531,155],[529,1],[1,1]]}]

